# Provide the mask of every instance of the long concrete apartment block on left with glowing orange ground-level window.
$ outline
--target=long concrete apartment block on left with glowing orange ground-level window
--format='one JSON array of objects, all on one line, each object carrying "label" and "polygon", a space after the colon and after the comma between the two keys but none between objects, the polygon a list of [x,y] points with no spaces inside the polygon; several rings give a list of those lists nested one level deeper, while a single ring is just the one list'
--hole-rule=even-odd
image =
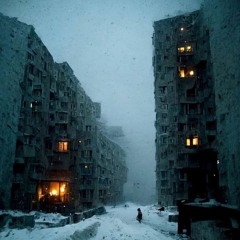
[{"label": "long concrete apartment block on left with glowing orange ground-level window", "polygon": [[83,210],[123,199],[123,149],[98,126],[68,63],[32,26],[0,15],[1,208]]}]

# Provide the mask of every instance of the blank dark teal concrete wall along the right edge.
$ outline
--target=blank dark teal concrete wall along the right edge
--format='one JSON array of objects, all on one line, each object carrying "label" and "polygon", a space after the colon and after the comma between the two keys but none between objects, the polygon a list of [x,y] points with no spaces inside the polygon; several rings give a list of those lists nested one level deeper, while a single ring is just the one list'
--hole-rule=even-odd
[{"label": "blank dark teal concrete wall along the right edge", "polygon": [[216,91],[220,187],[230,204],[240,206],[240,2],[206,0]]}]

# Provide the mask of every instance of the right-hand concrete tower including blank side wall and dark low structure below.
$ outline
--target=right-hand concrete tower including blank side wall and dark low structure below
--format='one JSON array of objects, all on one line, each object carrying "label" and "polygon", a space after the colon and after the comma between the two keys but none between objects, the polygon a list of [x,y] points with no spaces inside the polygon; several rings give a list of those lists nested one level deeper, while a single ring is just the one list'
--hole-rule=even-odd
[{"label": "right-hand concrete tower including blank side wall and dark low structure below", "polygon": [[154,23],[158,201],[191,202],[178,221],[191,239],[240,234],[239,12],[239,1],[205,0]]}]

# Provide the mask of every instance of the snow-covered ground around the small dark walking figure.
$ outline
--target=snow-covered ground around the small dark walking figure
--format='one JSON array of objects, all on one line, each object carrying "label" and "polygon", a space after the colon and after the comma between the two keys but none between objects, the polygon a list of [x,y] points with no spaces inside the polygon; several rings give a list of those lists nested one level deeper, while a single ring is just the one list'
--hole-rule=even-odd
[{"label": "snow-covered ground around the small dark walking figure", "polygon": [[[143,221],[136,221],[137,208],[141,208]],[[79,223],[64,227],[46,228],[35,224],[34,228],[0,229],[0,239],[48,239],[48,240],[172,240],[179,239],[177,223],[168,222],[172,211],[158,211],[158,206],[139,206],[126,203],[116,207],[106,207],[106,214],[93,216]],[[59,221],[61,215],[48,214],[47,221]],[[38,219],[39,221],[39,219]]]}]

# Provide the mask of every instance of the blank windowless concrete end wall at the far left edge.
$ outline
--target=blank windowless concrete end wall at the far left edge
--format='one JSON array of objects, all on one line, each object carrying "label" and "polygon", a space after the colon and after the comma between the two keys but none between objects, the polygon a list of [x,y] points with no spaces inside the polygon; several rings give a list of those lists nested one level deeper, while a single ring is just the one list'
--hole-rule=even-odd
[{"label": "blank windowless concrete end wall at the far left edge", "polygon": [[0,15],[0,29],[0,208],[9,208],[26,57],[23,49],[30,26]]}]

